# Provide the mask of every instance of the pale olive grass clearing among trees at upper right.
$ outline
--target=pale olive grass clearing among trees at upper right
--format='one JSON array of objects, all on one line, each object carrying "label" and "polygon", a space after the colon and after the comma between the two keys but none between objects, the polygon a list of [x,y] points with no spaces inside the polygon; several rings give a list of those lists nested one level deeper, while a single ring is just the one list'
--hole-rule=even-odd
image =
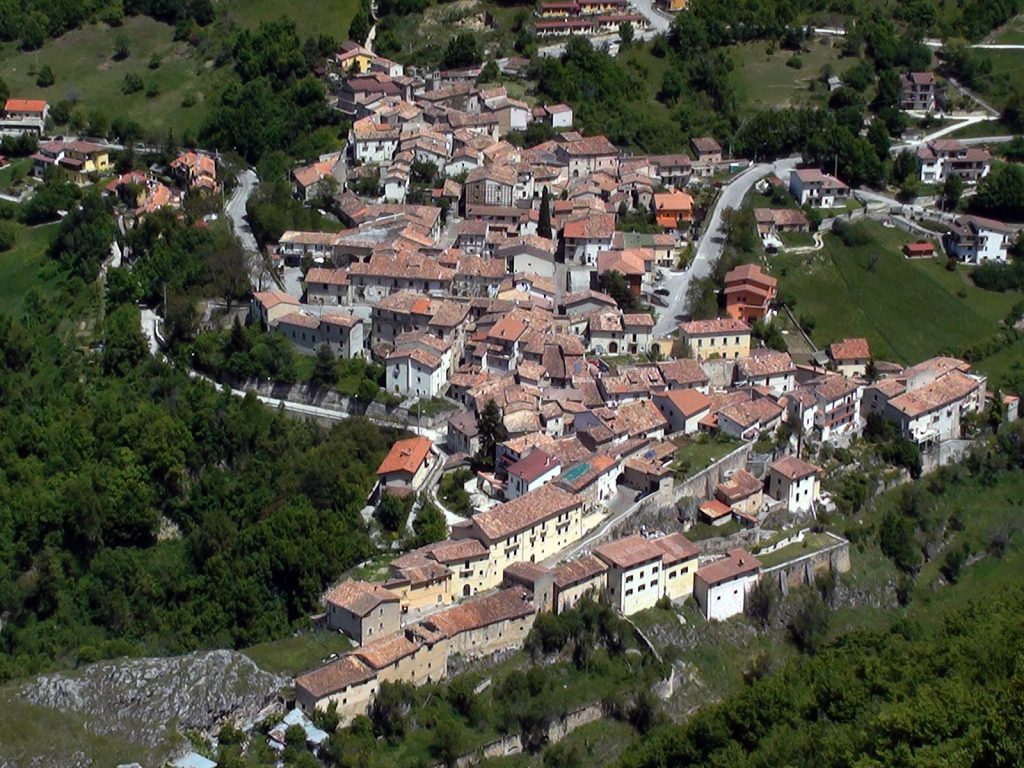
[{"label": "pale olive grass clearing among trees at upper right", "polygon": [[821,68],[830,65],[842,77],[857,59],[840,58],[840,48],[829,43],[811,42],[809,45],[810,52],[800,54],[804,66],[799,70],[785,65],[793,51],[778,49],[769,54],[764,42],[732,46],[730,77],[736,88],[737,102],[745,110],[823,104],[828,95],[824,84],[818,83],[815,90],[811,90],[811,83],[818,80]]}]

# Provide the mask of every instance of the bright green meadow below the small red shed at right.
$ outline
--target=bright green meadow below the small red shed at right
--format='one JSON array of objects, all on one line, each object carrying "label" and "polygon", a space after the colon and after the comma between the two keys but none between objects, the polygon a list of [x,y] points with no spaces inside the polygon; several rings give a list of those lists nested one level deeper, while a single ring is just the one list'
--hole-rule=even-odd
[{"label": "bright green meadow below the small red shed at right", "polygon": [[937,261],[907,261],[899,252],[910,238],[873,222],[871,236],[848,248],[826,234],[812,255],[772,260],[779,290],[796,298],[798,317],[810,317],[819,348],[847,336],[864,336],[878,359],[916,362],[958,352],[996,330],[1019,296],[981,291],[962,271]]}]

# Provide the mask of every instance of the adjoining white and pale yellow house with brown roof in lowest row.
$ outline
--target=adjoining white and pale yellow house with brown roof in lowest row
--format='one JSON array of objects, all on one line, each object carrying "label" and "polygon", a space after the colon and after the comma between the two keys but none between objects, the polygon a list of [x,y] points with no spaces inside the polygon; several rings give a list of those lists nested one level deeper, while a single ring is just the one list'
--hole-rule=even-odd
[{"label": "adjoining white and pale yellow house with brown roof in lowest row", "polygon": [[693,591],[699,549],[682,534],[658,539],[633,535],[594,548],[608,566],[608,596],[624,615],[678,600]]}]

